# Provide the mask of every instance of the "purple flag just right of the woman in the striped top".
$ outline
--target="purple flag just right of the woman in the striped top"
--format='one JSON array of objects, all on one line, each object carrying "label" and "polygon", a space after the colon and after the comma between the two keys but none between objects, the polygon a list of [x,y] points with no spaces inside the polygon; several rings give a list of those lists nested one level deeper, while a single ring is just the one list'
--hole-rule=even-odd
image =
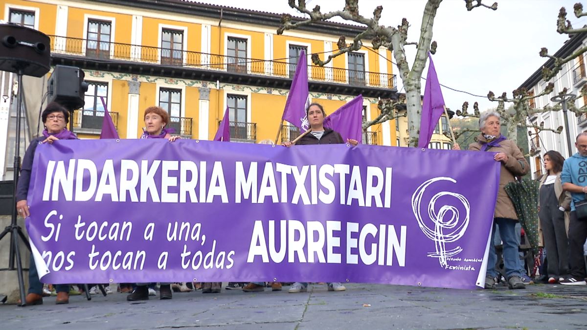
[{"label": "purple flag just right of the woman in the striped top", "polygon": [[346,103],[338,110],[331,113],[324,120],[324,127],[340,133],[342,139],[357,140],[362,143],[363,139],[363,96],[359,95]]}]

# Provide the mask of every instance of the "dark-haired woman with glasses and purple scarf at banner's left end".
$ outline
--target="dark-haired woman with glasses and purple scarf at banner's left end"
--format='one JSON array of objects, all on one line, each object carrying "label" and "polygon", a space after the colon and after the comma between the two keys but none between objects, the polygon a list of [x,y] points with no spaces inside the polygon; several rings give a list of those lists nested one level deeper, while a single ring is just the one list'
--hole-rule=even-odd
[{"label": "dark-haired woman with glasses and purple scarf at banner's left end", "polygon": [[[29,192],[29,183],[31,183],[31,171],[33,167],[33,157],[35,157],[35,150],[39,143],[50,143],[57,140],[71,140],[77,139],[77,136],[66,128],[69,123],[69,112],[65,107],[59,103],[51,102],[47,105],[41,114],[41,119],[45,125],[42,136],[37,137],[31,141],[28,149],[26,149],[25,157],[22,160],[21,176],[18,180],[18,187],[16,190],[16,211],[21,217],[29,217],[29,206],[26,204],[26,197]],[[57,298],[55,304],[69,304],[69,285],[58,284],[55,285]],[[26,305],[42,305],[43,304],[43,284],[39,280],[37,274],[35,260],[31,254],[31,264],[29,266],[29,291],[26,295]],[[19,304],[21,302],[19,301]]]}]

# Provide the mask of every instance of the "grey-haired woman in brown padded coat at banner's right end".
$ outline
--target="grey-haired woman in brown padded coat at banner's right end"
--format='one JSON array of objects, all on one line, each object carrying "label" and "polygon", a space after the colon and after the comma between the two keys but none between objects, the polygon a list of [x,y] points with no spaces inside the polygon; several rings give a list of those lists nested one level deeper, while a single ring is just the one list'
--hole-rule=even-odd
[{"label": "grey-haired woman in brown padded coat at banner's right end", "polygon": [[[469,145],[469,150],[490,151],[495,153],[493,159],[501,163],[500,187],[497,191],[493,227],[491,230],[491,243],[494,241],[495,225],[500,230],[503,242],[503,257],[505,275],[510,289],[524,289],[520,274],[520,260],[518,254],[518,239],[516,238],[515,225],[518,222],[518,215],[515,212],[514,204],[505,192],[505,185],[514,182],[515,177],[521,177],[528,173],[528,161],[518,146],[501,135],[501,117],[495,111],[488,111],[481,114],[479,118],[479,129],[481,134],[477,142]],[[460,149],[458,144],[455,149]],[[495,245],[490,244],[490,252],[487,260],[487,275],[485,276],[485,289],[494,289],[497,282],[497,271],[495,263]]]}]

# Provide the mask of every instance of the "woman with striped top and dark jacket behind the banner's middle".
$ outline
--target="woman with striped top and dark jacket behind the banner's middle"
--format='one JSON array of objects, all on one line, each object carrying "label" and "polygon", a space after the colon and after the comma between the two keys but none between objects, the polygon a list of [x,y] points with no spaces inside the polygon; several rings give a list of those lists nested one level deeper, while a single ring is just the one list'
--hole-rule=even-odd
[{"label": "woman with striped top and dark jacket behind the banner's middle", "polygon": [[[308,122],[310,124],[310,129],[308,130],[308,132],[303,134],[303,136],[299,137],[296,142],[282,143],[283,146],[291,147],[294,144],[307,145],[345,143],[345,140],[342,139],[340,133],[324,127],[324,119],[326,118],[326,112],[324,111],[322,105],[320,105],[319,103],[312,103],[311,105],[309,105],[308,109],[306,109],[306,117],[308,118]],[[347,139],[346,142],[351,144],[353,147],[359,143],[357,140],[353,139]],[[346,290],[345,286],[340,284],[339,282],[327,284],[328,291]],[[306,291],[308,291],[307,282],[295,282],[288,290],[289,293],[298,293]]]}]

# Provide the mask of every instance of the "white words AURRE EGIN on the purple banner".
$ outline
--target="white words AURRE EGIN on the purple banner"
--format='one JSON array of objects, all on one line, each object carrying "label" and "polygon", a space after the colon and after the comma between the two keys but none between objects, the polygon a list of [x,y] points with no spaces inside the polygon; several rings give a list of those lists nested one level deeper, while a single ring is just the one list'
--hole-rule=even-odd
[{"label": "white words AURRE EGIN on the purple banner", "polygon": [[[275,229],[275,220],[269,220],[266,225],[267,231],[263,221],[255,221],[247,255],[248,263],[259,262],[257,257],[264,263],[274,264],[285,260],[302,264],[343,263],[341,254],[334,252],[334,248],[340,248],[341,221],[326,221],[326,228],[321,221],[303,223],[298,220],[280,220],[279,230]],[[378,265],[392,266],[394,260],[397,260],[399,267],[405,267],[405,225],[400,227],[399,233],[394,225],[380,224],[377,227],[371,223],[361,225],[350,222],[346,225],[344,263],[371,265],[377,262]],[[276,235],[279,235],[279,247],[276,246]]]}]

